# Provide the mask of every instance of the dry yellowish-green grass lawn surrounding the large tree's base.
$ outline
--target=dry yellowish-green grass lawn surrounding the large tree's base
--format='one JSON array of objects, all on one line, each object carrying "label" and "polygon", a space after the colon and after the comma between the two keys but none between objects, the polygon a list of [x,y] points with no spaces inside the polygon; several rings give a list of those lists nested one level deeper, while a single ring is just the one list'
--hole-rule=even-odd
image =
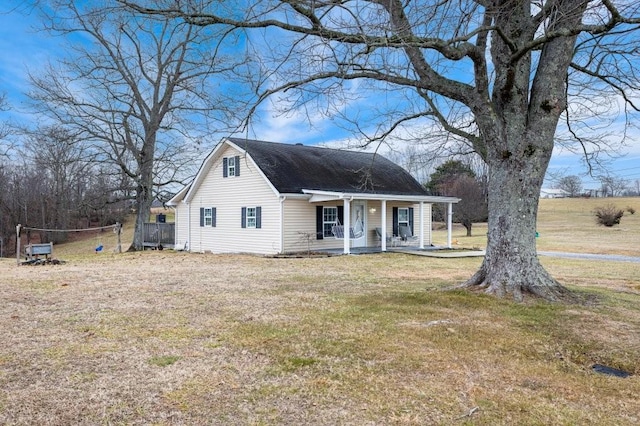
[{"label": "dry yellowish-green grass lawn surrounding the large tree's base", "polygon": [[[543,200],[540,250],[639,255],[640,213],[591,227],[569,201]],[[89,249],[0,259],[0,424],[640,422],[639,264],[543,257],[593,302],[514,304],[445,291],[480,258]]]}]

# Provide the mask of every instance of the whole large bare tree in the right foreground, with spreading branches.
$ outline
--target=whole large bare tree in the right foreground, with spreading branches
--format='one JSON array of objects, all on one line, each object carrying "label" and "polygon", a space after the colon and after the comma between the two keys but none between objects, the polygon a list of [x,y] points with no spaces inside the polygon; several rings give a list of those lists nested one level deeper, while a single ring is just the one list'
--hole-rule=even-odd
[{"label": "whole large bare tree in the right foreground, with spreading branches", "polygon": [[393,91],[387,114],[361,115],[357,132],[367,118],[380,117],[371,141],[431,120],[487,163],[488,245],[466,286],[516,300],[574,298],[538,260],[538,198],[555,141],[565,142],[556,138],[561,119],[561,136],[589,154],[595,120],[619,105],[638,111],[631,95],[640,86],[632,59],[640,44],[637,2],[263,0],[232,9],[119,1],[199,25],[266,28],[262,34],[279,43],[260,46],[265,66],[273,61],[263,95],[282,94],[285,109],[324,99],[326,111],[337,111],[344,96],[354,96],[356,80],[357,93],[377,94],[368,108],[384,106],[380,93]]}]

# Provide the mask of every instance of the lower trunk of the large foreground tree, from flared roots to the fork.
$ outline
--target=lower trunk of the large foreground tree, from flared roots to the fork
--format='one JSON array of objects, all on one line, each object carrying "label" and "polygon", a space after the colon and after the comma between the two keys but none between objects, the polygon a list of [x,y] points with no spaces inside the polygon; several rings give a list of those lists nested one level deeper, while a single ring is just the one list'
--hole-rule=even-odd
[{"label": "lower trunk of the large foreground tree, from flared roots to the fork", "polygon": [[488,240],[484,262],[464,286],[522,301],[526,295],[572,301],[536,253],[538,200],[549,155],[494,158],[489,164]]}]

